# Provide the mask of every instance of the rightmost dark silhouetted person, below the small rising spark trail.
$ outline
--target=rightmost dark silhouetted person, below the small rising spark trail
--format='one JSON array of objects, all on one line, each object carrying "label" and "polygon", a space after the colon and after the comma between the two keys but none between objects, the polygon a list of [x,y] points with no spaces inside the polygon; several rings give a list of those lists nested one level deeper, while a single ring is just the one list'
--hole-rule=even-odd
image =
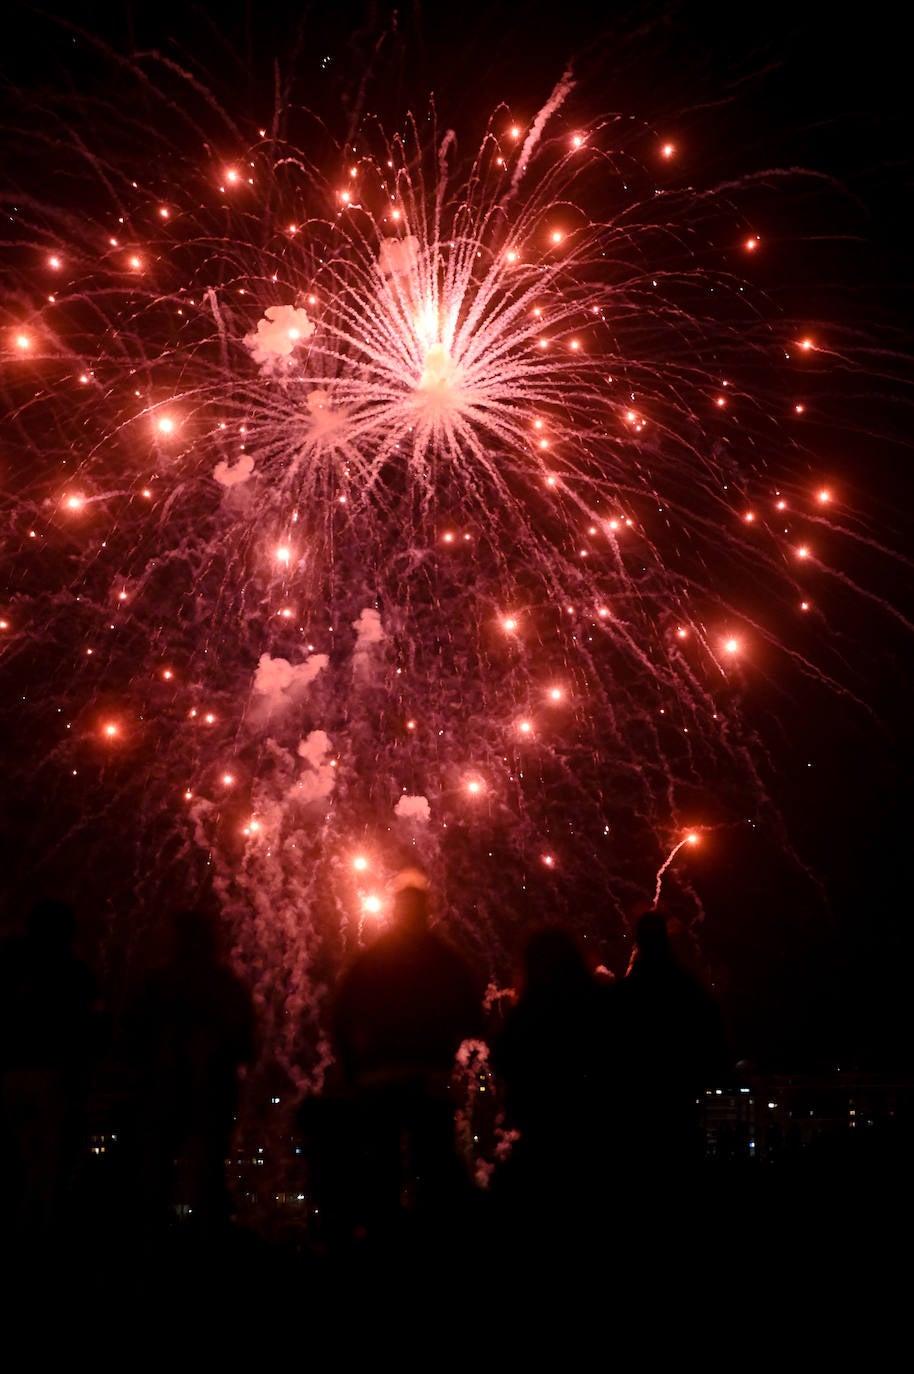
[{"label": "rightmost dark silhouetted person, below the small rising spark trail", "polygon": [[731,1068],[720,1010],[676,959],[661,911],[639,918],[616,991],[624,1164],[673,1182],[701,1162],[701,1099]]}]

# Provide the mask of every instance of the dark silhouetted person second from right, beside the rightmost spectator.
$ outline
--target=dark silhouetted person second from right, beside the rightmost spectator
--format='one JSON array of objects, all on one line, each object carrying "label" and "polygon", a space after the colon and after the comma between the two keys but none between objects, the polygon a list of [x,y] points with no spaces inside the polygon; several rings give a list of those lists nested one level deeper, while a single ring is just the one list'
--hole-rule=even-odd
[{"label": "dark silhouetted person second from right, beside the rightmost spectator", "polygon": [[511,1205],[568,1219],[605,1187],[613,993],[568,930],[531,936],[518,1000],[492,1047],[507,1125],[520,1131],[499,1179]]}]

